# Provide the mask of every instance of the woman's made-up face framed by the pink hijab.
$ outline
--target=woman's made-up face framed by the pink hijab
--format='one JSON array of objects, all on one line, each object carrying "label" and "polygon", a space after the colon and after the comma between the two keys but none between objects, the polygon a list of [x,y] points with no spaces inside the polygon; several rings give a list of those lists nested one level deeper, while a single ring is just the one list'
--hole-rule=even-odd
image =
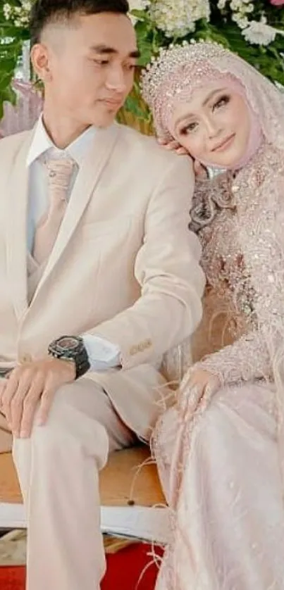
[{"label": "woman's made-up face framed by the pink hijab", "polygon": [[195,160],[230,168],[245,155],[250,113],[241,94],[226,82],[206,84],[175,105],[171,133]]}]

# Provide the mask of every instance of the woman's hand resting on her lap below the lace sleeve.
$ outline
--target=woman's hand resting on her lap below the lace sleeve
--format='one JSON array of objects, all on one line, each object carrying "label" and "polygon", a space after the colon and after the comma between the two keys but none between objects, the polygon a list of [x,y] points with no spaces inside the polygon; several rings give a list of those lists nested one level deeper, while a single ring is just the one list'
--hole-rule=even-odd
[{"label": "woman's hand resting on her lap below the lace sleeve", "polygon": [[218,375],[201,368],[190,369],[185,375],[178,396],[178,410],[184,419],[192,418],[202,401],[206,404],[220,389],[221,379]]}]

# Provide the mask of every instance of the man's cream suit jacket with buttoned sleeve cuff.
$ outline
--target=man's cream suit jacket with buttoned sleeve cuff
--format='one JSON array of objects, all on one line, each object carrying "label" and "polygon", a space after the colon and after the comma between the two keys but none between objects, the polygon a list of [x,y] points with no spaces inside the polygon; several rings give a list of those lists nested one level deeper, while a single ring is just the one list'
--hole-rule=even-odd
[{"label": "man's cream suit jacket with buttoned sleeve cuff", "polygon": [[30,132],[0,142],[0,366],[47,355],[63,334],[98,334],[121,370],[92,373],[125,422],[149,436],[165,396],[156,367],[201,318],[204,276],[190,234],[190,158],[121,125],[98,130],[58,239],[27,304]]}]

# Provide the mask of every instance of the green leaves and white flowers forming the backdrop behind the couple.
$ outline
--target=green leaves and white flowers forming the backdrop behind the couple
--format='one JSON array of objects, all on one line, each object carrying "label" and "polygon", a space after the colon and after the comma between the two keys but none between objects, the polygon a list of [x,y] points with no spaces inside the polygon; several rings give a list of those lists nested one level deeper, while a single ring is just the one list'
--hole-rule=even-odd
[{"label": "green leaves and white flowers forming the backdrop behind the couple", "polygon": [[[15,99],[11,81],[29,39],[31,6],[32,0],[0,0],[0,118],[4,100]],[[284,86],[284,0],[130,0],[130,18],[140,67],[161,47],[204,39],[223,44]],[[138,84],[125,109],[147,119]]]}]

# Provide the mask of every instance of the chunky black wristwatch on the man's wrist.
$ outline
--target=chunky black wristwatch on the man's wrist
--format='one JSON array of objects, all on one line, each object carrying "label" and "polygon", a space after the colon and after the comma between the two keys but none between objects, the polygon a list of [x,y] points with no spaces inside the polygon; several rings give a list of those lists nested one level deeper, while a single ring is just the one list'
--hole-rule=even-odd
[{"label": "chunky black wristwatch on the man's wrist", "polygon": [[84,341],[78,336],[61,336],[49,344],[48,352],[54,358],[73,360],[76,369],[75,379],[85,375],[91,366]]}]

